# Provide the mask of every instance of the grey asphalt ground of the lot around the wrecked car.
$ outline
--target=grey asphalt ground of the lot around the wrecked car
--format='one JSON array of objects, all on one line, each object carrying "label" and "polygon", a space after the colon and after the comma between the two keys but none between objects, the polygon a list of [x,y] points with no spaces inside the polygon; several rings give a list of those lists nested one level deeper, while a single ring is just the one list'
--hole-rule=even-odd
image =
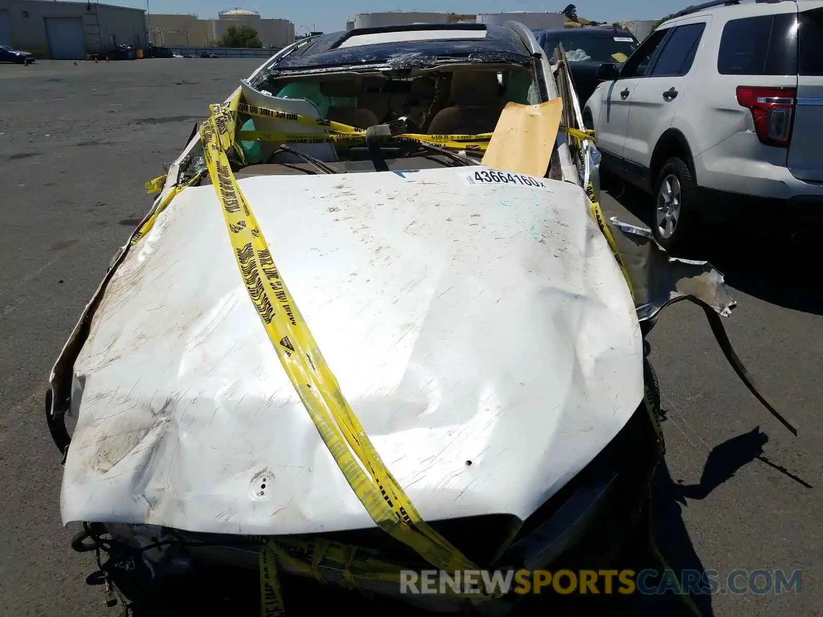
[{"label": "grey asphalt ground of the lot around the wrecked car", "polygon": [[[70,550],[61,526],[61,466],[43,412],[49,370],[151,206],[143,183],[260,62],[0,65],[2,615],[117,615],[86,584],[93,557]],[[607,215],[648,211],[639,194],[614,193]],[[667,415],[658,545],[674,568],[802,568],[800,595],[704,596],[705,615],[823,615],[821,277],[811,248],[727,233],[707,236],[704,252],[738,302],[726,321],[737,354],[800,438],[737,379],[700,309],[668,308],[649,337]]]}]

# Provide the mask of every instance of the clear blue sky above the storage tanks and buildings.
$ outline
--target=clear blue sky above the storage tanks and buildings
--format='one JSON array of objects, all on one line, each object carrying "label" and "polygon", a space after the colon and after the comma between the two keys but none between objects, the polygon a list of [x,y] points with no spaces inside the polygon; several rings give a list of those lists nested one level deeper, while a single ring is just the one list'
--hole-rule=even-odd
[{"label": "clear blue sky above the storage tanks and buildings", "polygon": [[[293,21],[297,34],[309,30],[330,32],[345,30],[346,17],[357,13],[382,11],[444,11],[455,13],[491,13],[505,11],[562,11],[570,2],[577,7],[577,14],[595,21],[631,21],[658,19],[686,8],[699,0],[519,0],[518,3],[495,0],[304,0],[303,2],[263,2],[262,0],[149,0],[152,13],[197,13],[202,19],[216,17],[218,11],[227,8],[247,8],[260,12],[263,17],[279,17]],[[123,7],[146,8],[146,0],[103,0],[105,4]],[[502,9],[507,6],[509,8]],[[314,26],[314,28],[313,28]]]}]

